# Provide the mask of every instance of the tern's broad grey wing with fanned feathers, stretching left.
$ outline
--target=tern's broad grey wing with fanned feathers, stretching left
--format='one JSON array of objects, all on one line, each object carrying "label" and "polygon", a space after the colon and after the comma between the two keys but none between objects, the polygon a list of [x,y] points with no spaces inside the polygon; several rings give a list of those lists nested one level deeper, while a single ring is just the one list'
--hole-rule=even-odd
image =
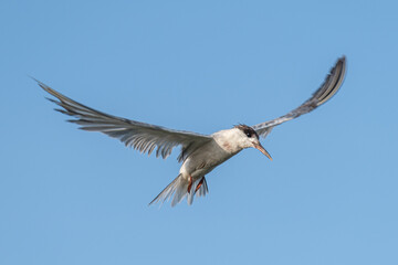
[{"label": "tern's broad grey wing with fanned feathers, stretching left", "polygon": [[63,108],[55,110],[75,117],[75,119],[67,121],[80,125],[80,129],[101,131],[117,138],[127,147],[133,147],[140,152],[148,152],[150,155],[157,148],[156,157],[167,158],[174,147],[181,146],[181,153],[178,160],[184,161],[198,147],[212,140],[210,136],[206,135],[172,130],[156,125],[115,117],[84,106],[48,85],[39,81],[36,82],[44,91],[59,99],[48,98]]}]

